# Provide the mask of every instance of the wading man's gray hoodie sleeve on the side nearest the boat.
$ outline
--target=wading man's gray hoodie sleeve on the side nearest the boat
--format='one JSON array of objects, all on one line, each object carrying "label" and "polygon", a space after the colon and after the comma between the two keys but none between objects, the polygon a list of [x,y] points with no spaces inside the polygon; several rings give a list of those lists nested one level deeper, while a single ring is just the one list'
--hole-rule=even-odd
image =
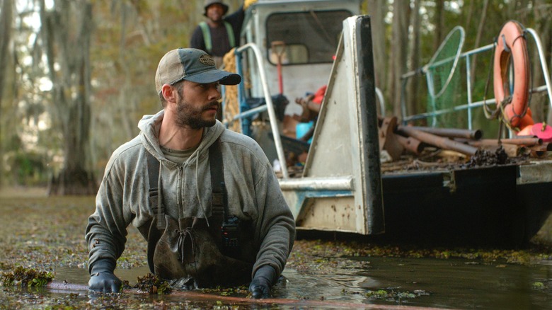
[{"label": "wading man's gray hoodie sleeve on the side nearest the boat", "polygon": [[263,170],[263,178],[260,178],[255,185],[260,248],[255,265],[253,265],[252,277],[263,265],[272,266],[280,275],[295,240],[293,214],[284,200],[280,184],[268,160]]}]

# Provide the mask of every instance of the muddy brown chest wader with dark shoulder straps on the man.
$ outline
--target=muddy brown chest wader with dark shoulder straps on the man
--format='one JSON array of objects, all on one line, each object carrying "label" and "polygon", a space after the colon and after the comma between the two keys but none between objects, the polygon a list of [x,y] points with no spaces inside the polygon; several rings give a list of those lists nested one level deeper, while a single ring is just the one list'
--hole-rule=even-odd
[{"label": "muddy brown chest wader with dark shoulder straps on the man", "polygon": [[164,214],[159,182],[159,161],[148,154],[149,203],[154,217],[139,227],[148,241],[151,272],[165,280],[195,282],[195,287],[243,285],[251,281],[256,253],[251,222],[229,214],[224,166],[217,139],[209,147],[212,216],[173,219]]}]

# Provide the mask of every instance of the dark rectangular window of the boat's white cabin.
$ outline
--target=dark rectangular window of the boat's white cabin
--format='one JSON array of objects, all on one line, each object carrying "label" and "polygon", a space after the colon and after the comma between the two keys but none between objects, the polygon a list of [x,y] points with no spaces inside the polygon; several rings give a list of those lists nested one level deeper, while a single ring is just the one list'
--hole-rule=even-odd
[{"label": "dark rectangular window of the boat's white cabin", "polygon": [[333,62],[350,11],[274,13],[266,21],[268,60],[272,64]]}]

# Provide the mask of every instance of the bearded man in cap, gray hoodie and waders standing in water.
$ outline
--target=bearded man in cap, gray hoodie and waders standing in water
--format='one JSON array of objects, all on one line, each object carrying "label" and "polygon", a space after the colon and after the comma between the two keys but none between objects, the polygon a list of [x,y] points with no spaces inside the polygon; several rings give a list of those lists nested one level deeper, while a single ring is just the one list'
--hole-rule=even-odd
[{"label": "bearded man in cap, gray hoodie and waders standing in water", "polygon": [[110,157],[88,218],[89,289],[118,292],[127,226],[148,243],[151,272],[180,287],[251,282],[270,296],[294,244],[295,222],[272,166],[251,138],[216,120],[219,85],[241,76],[202,50],[167,52],[155,75],[163,109]]}]

